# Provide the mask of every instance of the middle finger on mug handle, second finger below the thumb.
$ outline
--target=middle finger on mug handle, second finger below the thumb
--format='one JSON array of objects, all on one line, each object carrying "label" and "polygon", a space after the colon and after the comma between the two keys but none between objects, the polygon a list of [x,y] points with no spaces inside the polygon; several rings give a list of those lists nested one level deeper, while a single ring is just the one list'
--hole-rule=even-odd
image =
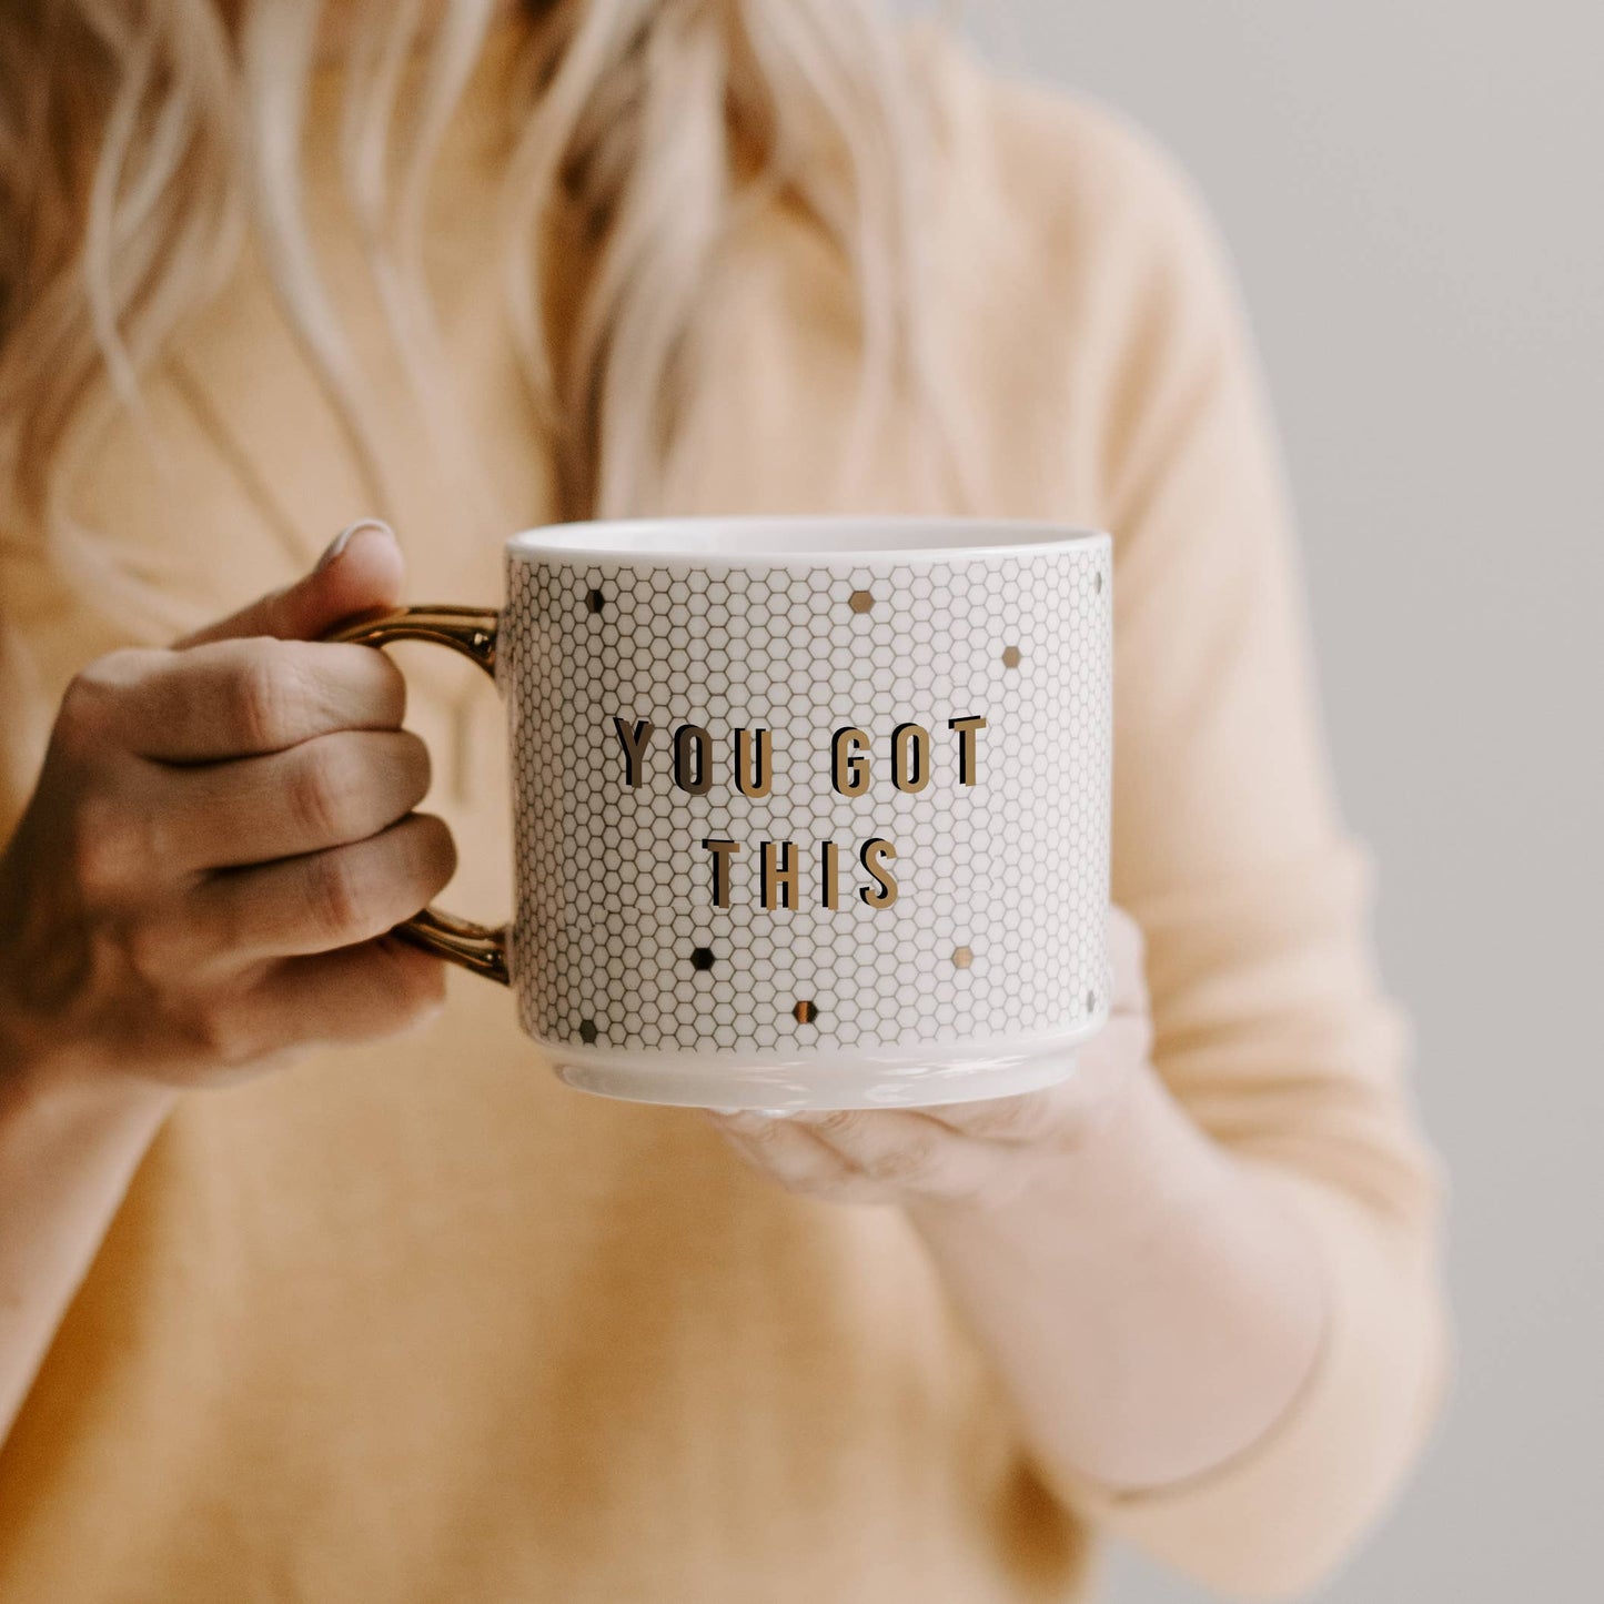
[{"label": "middle finger on mug handle, second finger below the thumb", "polygon": [[226,869],[366,840],[428,794],[428,747],[407,730],[338,730],[284,752],[157,770],[164,861]]}]

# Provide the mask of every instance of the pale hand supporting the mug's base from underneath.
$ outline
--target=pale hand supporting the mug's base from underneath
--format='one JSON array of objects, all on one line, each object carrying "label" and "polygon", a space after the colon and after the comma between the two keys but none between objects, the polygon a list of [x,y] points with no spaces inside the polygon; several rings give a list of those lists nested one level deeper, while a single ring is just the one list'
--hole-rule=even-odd
[{"label": "pale hand supporting the mug's base from underneath", "polygon": [[707,1115],[741,1158],[788,1192],[832,1203],[1012,1201],[1099,1139],[1147,1062],[1142,934],[1118,908],[1108,911],[1108,1025],[1057,1086],[935,1108]]}]

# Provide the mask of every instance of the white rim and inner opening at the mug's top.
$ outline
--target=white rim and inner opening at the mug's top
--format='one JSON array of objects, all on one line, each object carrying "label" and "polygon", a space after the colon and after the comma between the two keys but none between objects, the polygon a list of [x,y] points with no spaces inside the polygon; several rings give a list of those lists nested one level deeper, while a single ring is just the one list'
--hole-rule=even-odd
[{"label": "white rim and inner opening at the mug's top", "polygon": [[[733,537],[759,537],[760,544],[719,549],[687,539],[691,531],[715,526]],[[813,544],[810,529],[828,528],[842,544]],[[908,544],[871,539],[876,533],[909,537]],[[853,542],[850,537],[861,536]],[[986,536],[994,536],[986,539]],[[935,536],[932,542],[929,536]],[[951,536],[943,541],[942,536]],[[796,537],[796,539],[792,539]],[[773,544],[768,544],[768,542]],[[699,566],[772,568],[783,563],[810,566],[839,563],[951,563],[991,557],[1030,557],[1108,545],[1105,529],[1052,523],[1036,518],[969,518],[921,513],[752,513],[677,518],[595,518],[537,525],[512,536],[508,558],[525,561],[592,560],[598,563],[683,561]]]}]

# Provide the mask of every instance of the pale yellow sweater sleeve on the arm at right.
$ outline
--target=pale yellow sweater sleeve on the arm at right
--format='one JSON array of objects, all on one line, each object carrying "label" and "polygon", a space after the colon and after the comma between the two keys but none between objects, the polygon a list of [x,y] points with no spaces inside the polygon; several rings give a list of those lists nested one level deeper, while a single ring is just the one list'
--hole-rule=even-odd
[{"label": "pale yellow sweater sleeve on the arm at right", "polygon": [[1301,1395],[1237,1460],[1185,1485],[1070,1498],[1224,1594],[1285,1598],[1376,1519],[1434,1412],[1440,1187],[1404,1079],[1408,1033],[1371,956],[1370,858],[1327,770],[1229,257],[1163,152],[1097,119],[1120,194],[1094,295],[1120,308],[1100,316],[1094,358],[1116,563],[1115,898],[1147,937],[1165,1083],[1306,1225],[1330,1318]]}]

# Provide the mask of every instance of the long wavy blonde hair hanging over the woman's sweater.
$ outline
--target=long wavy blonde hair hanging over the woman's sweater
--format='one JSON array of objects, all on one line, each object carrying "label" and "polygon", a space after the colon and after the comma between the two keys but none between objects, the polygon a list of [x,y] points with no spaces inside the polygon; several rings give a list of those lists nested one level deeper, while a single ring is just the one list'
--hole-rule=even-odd
[{"label": "long wavy blonde hair hanging over the woman's sweater", "polygon": [[[422,269],[423,196],[497,0],[353,0],[345,186],[419,406],[449,436]],[[302,217],[300,128],[324,0],[13,0],[0,13],[0,508],[85,592],[74,464],[255,231],[284,311],[390,504],[364,379]],[[436,6],[438,10],[438,6]],[[565,516],[653,510],[719,252],[743,212],[800,207],[850,266],[858,428],[937,387],[916,215],[930,106],[874,0],[526,0],[505,172],[518,359]],[[422,93],[398,106],[425,51]],[[553,220],[590,268],[553,340]],[[934,414],[932,414],[934,415]],[[467,441],[454,439],[460,456]],[[849,462],[852,473],[861,462]],[[141,576],[119,576],[138,585]],[[149,587],[148,587],[149,589]]]}]

